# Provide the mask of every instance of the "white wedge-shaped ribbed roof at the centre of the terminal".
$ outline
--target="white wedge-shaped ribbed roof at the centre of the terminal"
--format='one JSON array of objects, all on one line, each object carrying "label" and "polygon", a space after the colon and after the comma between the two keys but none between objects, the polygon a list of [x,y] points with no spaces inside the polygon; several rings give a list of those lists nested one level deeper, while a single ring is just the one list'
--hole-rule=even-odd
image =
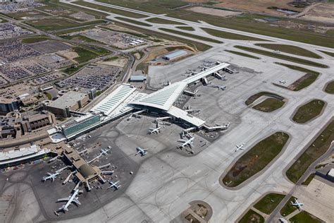
[{"label": "white wedge-shaped ribbed roof at the centre of the terminal", "polygon": [[135,100],[131,104],[155,107],[167,111],[183,93],[185,88],[187,88],[187,82],[176,82],[150,95],[146,95],[140,98],[140,100]]}]

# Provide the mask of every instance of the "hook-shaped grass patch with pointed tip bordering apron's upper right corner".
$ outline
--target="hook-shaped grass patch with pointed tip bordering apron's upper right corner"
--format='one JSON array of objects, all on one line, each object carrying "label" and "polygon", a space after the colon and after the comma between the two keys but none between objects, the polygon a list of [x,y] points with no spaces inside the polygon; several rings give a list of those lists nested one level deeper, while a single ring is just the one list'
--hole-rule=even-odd
[{"label": "hook-shaped grass patch with pointed tip bordering apron's upper right corner", "polygon": [[290,64],[282,64],[282,63],[275,63],[275,64],[285,66],[285,67],[290,68],[290,69],[295,70],[295,71],[301,71],[301,72],[306,73],[305,76],[303,76],[302,78],[297,80],[295,83],[292,83],[292,85],[294,85],[293,91],[298,91],[298,90],[302,90],[304,88],[309,87],[309,85],[314,83],[314,81],[316,81],[316,78],[318,78],[318,76],[320,75],[320,73],[318,73],[316,71],[311,71],[307,68],[302,68],[300,66],[295,66],[295,65],[290,65]]}]

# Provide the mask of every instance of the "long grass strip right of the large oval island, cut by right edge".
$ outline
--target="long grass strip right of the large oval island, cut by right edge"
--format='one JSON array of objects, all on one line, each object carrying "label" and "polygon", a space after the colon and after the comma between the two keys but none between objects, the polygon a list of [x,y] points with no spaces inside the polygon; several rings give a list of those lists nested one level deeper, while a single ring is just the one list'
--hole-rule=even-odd
[{"label": "long grass strip right of the large oval island, cut by right edge", "polygon": [[330,143],[334,140],[334,121],[331,121],[326,128],[318,134],[316,140],[314,140],[307,150],[300,155],[297,160],[292,164],[292,166],[287,169],[286,176],[293,183],[302,177],[307,168],[321,157],[328,148]]}]

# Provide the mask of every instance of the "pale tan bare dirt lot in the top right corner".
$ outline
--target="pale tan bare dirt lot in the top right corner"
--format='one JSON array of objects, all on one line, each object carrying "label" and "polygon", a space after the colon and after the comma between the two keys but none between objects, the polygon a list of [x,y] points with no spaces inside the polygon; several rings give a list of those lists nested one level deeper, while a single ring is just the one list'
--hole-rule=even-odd
[{"label": "pale tan bare dirt lot in the top right corner", "polygon": [[334,23],[334,4],[319,4],[300,17],[324,23]]}]

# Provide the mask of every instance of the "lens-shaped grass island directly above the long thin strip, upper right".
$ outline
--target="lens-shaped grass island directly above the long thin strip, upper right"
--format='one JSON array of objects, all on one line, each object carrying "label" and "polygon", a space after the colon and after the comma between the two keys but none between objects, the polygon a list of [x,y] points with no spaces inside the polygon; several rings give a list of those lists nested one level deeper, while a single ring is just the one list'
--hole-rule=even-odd
[{"label": "lens-shaped grass island directly above the long thin strip, upper right", "polygon": [[279,50],[280,52],[285,52],[287,54],[294,54],[298,56],[307,56],[315,59],[321,59],[322,57],[318,54],[311,52],[307,49],[303,49],[301,47],[296,47],[292,45],[285,45],[285,44],[264,44],[264,43],[258,43],[255,44],[259,47],[264,47],[266,49],[272,49],[272,50]]}]

